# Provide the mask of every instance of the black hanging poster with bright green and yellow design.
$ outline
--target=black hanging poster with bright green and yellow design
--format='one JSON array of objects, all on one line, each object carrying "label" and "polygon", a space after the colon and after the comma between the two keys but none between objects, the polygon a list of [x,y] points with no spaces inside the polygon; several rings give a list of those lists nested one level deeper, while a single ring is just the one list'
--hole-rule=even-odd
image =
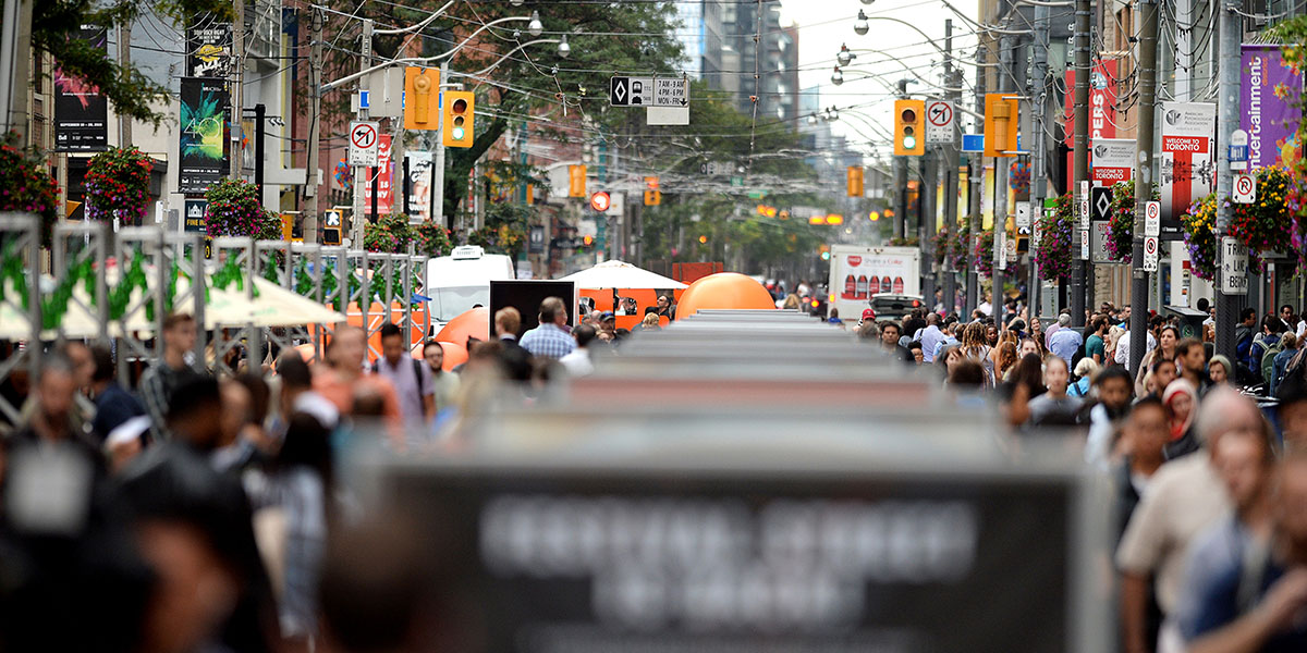
[{"label": "black hanging poster with bright green and yellow design", "polygon": [[182,80],[179,192],[203,193],[227,175],[230,103],[223,80]]}]

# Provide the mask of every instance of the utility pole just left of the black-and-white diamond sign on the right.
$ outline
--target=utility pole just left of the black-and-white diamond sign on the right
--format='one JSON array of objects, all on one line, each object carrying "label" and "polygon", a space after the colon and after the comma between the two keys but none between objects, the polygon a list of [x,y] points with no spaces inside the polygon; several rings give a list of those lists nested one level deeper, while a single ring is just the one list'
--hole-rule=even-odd
[{"label": "utility pole just left of the black-and-white diamond sign on the right", "polygon": [[[1085,294],[1086,286],[1094,283],[1094,268],[1090,261],[1084,260],[1080,243],[1084,238],[1084,227],[1089,225],[1089,215],[1081,215],[1080,208],[1085,197],[1081,193],[1082,182],[1089,180],[1089,20],[1091,12],[1090,0],[1076,0],[1076,140],[1074,140],[1074,213],[1077,215],[1076,234],[1072,238],[1072,264],[1070,264],[1070,323],[1076,326],[1085,324]],[[1142,46],[1142,40],[1140,42]],[[1154,52],[1155,56],[1155,52]],[[1142,108],[1140,110],[1144,111]],[[1141,129],[1142,131],[1142,129]],[[1146,184],[1145,184],[1146,188]],[[1142,215],[1142,213],[1140,213]]]}]

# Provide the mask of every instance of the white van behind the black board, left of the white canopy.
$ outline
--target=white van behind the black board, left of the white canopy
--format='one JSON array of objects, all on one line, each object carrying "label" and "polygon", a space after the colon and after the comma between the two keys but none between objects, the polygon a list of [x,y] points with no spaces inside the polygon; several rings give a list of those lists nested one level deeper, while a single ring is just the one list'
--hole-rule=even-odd
[{"label": "white van behind the black board, left of the white canopy", "polygon": [[490,282],[514,278],[512,259],[478,246],[455,247],[426,264],[425,295],[435,332],[473,306],[490,306]]}]

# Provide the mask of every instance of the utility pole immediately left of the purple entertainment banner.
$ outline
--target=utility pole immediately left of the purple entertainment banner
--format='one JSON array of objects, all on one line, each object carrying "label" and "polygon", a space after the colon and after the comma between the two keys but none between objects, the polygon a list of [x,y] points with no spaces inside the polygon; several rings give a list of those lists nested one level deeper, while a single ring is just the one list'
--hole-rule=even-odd
[{"label": "utility pole immediately left of the purple entertainment banner", "polygon": [[[1226,294],[1221,291],[1223,282],[1221,277],[1225,274],[1223,259],[1225,247],[1221,244],[1221,239],[1230,231],[1230,208],[1226,202],[1221,201],[1222,197],[1230,197],[1233,185],[1233,172],[1230,171],[1230,135],[1239,128],[1239,40],[1240,31],[1243,31],[1242,18],[1235,13],[1239,5],[1230,0],[1223,0],[1221,3],[1219,16],[1217,21],[1219,24],[1219,37],[1221,37],[1221,51],[1219,51],[1219,69],[1221,80],[1218,86],[1217,97],[1219,99],[1219,118],[1217,119],[1217,151],[1219,151],[1219,163],[1217,166],[1217,279],[1216,279],[1216,299],[1217,299],[1217,341],[1216,351],[1229,357],[1234,360],[1235,355],[1235,340],[1234,340],[1234,325],[1238,321],[1239,303],[1238,296]],[[1136,184],[1134,195],[1138,195],[1138,188],[1148,188],[1148,184]],[[1136,204],[1138,204],[1136,201]],[[1142,215],[1137,213],[1136,215]],[[1248,283],[1253,286],[1253,283]],[[1134,346],[1133,343],[1131,345]],[[1131,350],[1133,353],[1133,350]]]}]

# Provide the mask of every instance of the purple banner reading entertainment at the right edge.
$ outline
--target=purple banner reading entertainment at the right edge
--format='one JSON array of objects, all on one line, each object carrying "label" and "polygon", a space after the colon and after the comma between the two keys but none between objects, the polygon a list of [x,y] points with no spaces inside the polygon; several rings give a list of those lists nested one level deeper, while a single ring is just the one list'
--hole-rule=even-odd
[{"label": "purple banner reading entertainment at the right edge", "polygon": [[1239,84],[1239,127],[1248,132],[1252,168],[1274,166],[1297,149],[1302,114],[1293,106],[1303,91],[1302,73],[1280,56],[1280,46],[1243,46]]}]

